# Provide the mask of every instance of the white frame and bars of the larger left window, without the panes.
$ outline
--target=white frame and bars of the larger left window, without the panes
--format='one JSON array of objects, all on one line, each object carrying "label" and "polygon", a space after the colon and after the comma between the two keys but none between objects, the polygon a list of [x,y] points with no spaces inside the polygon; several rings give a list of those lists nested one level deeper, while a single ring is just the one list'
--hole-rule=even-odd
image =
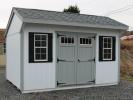
[{"label": "white frame and bars of the larger left window, without the panes", "polygon": [[[40,46],[40,47],[36,47],[35,46],[35,37],[37,36],[37,35],[45,35],[46,36],[46,47],[43,47],[43,46]],[[42,60],[42,59],[40,59],[40,60],[38,60],[38,59],[36,59],[36,52],[35,52],[35,50],[36,50],[36,48],[46,48],[46,59],[44,59],[44,60]],[[38,34],[38,33],[36,33],[36,34],[34,34],[34,61],[48,61],[48,34]]]}]

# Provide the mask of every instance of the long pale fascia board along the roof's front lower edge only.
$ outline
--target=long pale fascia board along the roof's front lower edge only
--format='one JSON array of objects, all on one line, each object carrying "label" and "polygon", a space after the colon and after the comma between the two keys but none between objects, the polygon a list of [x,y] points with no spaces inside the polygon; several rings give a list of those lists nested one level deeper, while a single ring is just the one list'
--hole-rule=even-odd
[{"label": "long pale fascia board along the roof's front lower edge only", "polygon": [[63,22],[54,20],[40,20],[40,19],[29,19],[23,18],[26,23],[39,23],[39,24],[49,24],[49,25],[65,25],[65,26],[79,26],[79,27],[89,27],[89,28],[104,28],[104,29],[118,29],[127,30],[128,26],[112,26],[112,25],[99,25],[99,24],[88,24],[88,23],[77,23],[77,22]]}]

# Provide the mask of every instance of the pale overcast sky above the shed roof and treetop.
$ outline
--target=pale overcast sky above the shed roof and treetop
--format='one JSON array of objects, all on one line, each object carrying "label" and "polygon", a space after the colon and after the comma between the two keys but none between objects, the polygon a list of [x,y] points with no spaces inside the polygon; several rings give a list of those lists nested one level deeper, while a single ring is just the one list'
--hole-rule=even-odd
[{"label": "pale overcast sky above the shed roof and treetop", "polygon": [[1,0],[0,28],[6,28],[12,7],[63,11],[77,5],[81,14],[108,16],[133,30],[133,0]]}]

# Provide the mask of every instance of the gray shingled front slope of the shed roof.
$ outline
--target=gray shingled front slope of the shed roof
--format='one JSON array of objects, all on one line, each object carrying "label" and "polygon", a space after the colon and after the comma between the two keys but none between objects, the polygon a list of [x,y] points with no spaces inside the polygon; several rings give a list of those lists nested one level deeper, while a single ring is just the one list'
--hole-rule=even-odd
[{"label": "gray shingled front slope of the shed roof", "polygon": [[109,17],[85,15],[85,14],[72,14],[65,12],[37,10],[37,9],[25,9],[15,8],[16,11],[23,17],[29,19],[42,19],[42,20],[53,20],[63,22],[77,22],[82,24],[98,24],[98,25],[110,25],[110,26],[121,26],[128,27],[118,21],[115,21]]}]

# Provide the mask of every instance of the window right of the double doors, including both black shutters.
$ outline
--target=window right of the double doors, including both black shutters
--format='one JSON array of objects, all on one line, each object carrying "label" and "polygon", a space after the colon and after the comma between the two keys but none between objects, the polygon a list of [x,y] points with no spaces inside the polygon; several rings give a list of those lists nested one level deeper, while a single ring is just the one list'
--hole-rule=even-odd
[{"label": "window right of the double doors, including both black shutters", "polygon": [[115,61],[115,36],[99,36],[99,61]]}]

